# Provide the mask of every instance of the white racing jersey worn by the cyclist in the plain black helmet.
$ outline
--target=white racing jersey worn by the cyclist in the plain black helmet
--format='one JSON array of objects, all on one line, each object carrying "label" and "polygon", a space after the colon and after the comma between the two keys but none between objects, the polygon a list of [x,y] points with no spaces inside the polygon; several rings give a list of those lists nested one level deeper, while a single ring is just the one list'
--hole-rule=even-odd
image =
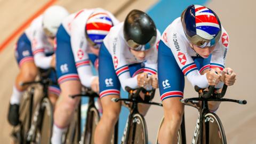
[{"label": "white racing jersey worn by the cyclist in the plain black helmet", "polygon": [[[119,78],[122,88],[130,86],[132,89],[138,87],[137,74],[141,71],[147,72],[149,75],[157,74],[157,45],[161,38],[161,34],[157,30],[156,42],[146,53],[145,60],[138,60],[131,53],[123,34],[124,22],[110,29],[109,34],[103,39],[103,43],[107,47],[108,52],[113,60],[115,73]],[[138,70],[133,76],[130,75],[129,65],[134,63],[144,63],[145,67]],[[125,90],[125,89],[124,89]]]}]

